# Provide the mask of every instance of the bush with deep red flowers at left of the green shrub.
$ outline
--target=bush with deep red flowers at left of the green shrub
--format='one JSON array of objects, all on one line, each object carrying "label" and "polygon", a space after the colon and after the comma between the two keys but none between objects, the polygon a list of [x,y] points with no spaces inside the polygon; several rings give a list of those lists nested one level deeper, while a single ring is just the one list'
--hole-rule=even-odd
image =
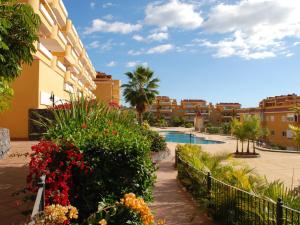
[{"label": "bush with deep red flowers at left of the green shrub", "polygon": [[32,150],[27,188],[36,192],[39,178],[46,175],[46,205],[69,205],[73,173],[88,172],[82,153],[72,144],[56,145],[51,141],[41,141]]}]

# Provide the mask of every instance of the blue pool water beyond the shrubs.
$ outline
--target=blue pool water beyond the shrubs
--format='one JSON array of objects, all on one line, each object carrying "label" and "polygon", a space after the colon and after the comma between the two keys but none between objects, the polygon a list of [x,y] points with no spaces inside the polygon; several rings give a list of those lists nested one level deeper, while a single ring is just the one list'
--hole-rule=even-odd
[{"label": "blue pool water beyond the shrubs", "polygon": [[222,141],[207,140],[204,138],[196,137],[195,135],[185,134],[177,131],[163,131],[161,132],[167,142],[177,143],[191,143],[191,144],[223,144]]}]

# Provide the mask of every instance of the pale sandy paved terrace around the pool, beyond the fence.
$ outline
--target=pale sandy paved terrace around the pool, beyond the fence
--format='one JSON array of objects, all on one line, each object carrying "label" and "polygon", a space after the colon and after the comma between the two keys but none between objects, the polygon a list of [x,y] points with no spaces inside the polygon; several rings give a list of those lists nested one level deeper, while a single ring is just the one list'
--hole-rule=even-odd
[{"label": "pale sandy paved terrace around the pool, beyond the fence", "polygon": [[[168,128],[170,130],[178,130],[190,132],[191,129],[186,128]],[[158,129],[159,130],[159,129]],[[166,130],[166,129],[163,129]],[[233,153],[236,149],[236,140],[230,136],[209,135],[193,132],[199,137],[210,140],[224,141],[224,144],[205,144],[201,145],[203,150],[210,153],[228,152]],[[176,147],[176,143],[170,143],[171,148]],[[240,143],[241,147],[241,143]],[[246,149],[246,144],[244,146]],[[251,148],[250,148],[251,149]],[[254,168],[260,175],[265,175],[269,181],[282,180],[288,187],[296,187],[300,185],[300,153],[277,153],[257,151],[260,158],[254,159],[234,159],[248,164]]]}]

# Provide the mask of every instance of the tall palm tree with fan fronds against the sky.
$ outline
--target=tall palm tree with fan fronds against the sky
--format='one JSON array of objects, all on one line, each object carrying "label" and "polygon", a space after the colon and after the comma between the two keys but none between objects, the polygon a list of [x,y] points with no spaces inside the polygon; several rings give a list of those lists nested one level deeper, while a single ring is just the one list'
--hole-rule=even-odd
[{"label": "tall palm tree with fan fronds against the sky", "polygon": [[153,78],[154,72],[150,68],[138,66],[135,71],[125,73],[129,79],[124,88],[125,101],[136,108],[138,121],[143,122],[143,113],[158,95],[159,79]]}]

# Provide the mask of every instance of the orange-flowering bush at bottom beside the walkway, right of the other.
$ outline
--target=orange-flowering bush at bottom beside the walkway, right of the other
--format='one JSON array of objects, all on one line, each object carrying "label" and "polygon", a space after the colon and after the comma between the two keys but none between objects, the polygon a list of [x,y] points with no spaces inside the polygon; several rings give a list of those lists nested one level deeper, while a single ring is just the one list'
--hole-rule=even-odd
[{"label": "orange-flowering bush at bottom beside the walkway, right of the other", "polygon": [[103,201],[99,204],[98,211],[91,215],[86,224],[89,225],[162,225],[163,220],[154,220],[151,210],[144,199],[135,194],[125,194],[120,201]]}]

